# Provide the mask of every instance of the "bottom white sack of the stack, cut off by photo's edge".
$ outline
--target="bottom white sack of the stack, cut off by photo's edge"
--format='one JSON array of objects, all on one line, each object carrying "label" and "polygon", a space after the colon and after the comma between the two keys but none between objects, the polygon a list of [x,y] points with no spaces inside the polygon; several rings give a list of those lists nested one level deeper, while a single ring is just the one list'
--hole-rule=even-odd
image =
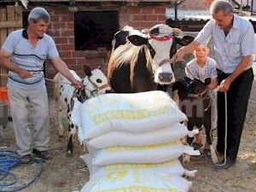
[{"label": "bottom white sack of the stack, cut off by photo's edge", "polygon": [[186,192],[192,183],[183,177],[143,170],[120,170],[91,179],[81,192]]}]

